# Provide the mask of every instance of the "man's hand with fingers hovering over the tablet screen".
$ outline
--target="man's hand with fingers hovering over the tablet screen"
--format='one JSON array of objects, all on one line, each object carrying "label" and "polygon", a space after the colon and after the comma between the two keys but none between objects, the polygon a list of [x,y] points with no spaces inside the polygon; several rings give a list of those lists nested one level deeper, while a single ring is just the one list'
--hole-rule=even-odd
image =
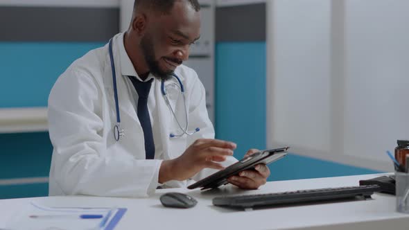
[{"label": "man's hand with fingers hovering over the tablet screen", "polygon": [[236,144],[217,139],[198,139],[176,159],[163,161],[159,169],[159,183],[170,180],[182,181],[193,177],[203,168],[224,167],[218,163],[233,155]]}]

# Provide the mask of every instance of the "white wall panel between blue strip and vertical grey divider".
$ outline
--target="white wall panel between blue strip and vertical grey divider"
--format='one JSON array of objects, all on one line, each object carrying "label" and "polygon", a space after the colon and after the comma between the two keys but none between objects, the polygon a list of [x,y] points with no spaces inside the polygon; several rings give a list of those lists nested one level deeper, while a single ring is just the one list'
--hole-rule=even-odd
[{"label": "white wall panel between blue strip and vertical grey divider", "polygon": [[[327,0],[275,1],[272,137],[329,150],[330,6]],[[290,124],[290,125],[288,125]],[[317,138],[320,136],[320,138]]]}]

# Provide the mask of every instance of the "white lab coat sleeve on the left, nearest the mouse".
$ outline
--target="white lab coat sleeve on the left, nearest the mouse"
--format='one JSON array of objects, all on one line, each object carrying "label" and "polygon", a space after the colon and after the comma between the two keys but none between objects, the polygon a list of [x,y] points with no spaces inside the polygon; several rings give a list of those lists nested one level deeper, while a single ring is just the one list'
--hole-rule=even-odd
[{"label": "white lab coat sleeve on the left, nearest the mouse", "polygon": [[135,159],[103,138],[103,94],[87,73],[67,71],[49,96],[50,179],[65,195],[145,197],[155,192],[160,160]]}]

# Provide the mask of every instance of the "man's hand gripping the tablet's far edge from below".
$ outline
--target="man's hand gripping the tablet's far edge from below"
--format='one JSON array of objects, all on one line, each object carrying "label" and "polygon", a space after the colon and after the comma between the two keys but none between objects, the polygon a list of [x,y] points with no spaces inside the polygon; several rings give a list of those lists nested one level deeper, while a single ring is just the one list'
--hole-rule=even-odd
[{"label": "man's hand gripping the tablet's far edge from below", "polygon": [[[248,150],[244,157],[248,157],[256,152],[259,152],[259,150]],[[265,164],[258,164],[255,170],[244,170],[238,176],[229,177],[227,180],[239,188],[257,189],[266,184],[268,176],[270,176],[270,169]]]}]

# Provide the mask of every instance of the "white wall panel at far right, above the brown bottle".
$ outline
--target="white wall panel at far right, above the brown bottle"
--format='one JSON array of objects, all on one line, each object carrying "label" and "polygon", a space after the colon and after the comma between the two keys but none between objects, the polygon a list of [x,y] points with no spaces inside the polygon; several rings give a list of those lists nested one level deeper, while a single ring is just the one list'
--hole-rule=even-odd
[{"label": "white wall panel at far right, above the brown bottle", "polygon": [[409,1],[345,6],[345,154],[388,161],[383,152],[409,139]]}]

